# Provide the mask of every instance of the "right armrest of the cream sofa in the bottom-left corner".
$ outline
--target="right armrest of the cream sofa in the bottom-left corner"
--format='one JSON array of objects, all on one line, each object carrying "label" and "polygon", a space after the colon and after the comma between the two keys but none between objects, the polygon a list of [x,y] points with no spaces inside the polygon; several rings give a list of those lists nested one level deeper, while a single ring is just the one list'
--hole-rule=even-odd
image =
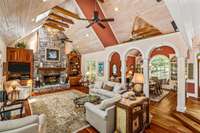
[{"label": "right armrest of the cream sofa in the bottom-left corner", "polygon": [[46,133],[47,120],[46,115],[41,114],[39,116],[39,133]]}]

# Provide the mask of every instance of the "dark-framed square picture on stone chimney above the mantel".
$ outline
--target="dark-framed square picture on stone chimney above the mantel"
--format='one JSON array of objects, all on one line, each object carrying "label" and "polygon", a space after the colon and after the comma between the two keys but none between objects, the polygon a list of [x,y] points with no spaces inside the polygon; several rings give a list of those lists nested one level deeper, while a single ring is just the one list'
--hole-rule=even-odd
[{"label": "dark-framed square picture on stone chimney above the mantel", "polygon": [[60,61],[60,49],[57,48],[46,48],[45,59],[49,62]]}]

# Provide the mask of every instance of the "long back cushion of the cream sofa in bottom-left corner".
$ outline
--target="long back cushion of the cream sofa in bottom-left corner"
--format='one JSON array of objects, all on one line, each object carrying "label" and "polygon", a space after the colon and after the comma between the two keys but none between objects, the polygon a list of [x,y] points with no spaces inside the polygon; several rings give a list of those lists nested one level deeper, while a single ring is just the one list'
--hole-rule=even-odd
[{"label": "long back cushion of the cream sofa in bottom-left corner", "polygon": [[0,132],[22,128],[34,123],[39,124],[39,116],[31,115],[15,120],[0,121]]}]

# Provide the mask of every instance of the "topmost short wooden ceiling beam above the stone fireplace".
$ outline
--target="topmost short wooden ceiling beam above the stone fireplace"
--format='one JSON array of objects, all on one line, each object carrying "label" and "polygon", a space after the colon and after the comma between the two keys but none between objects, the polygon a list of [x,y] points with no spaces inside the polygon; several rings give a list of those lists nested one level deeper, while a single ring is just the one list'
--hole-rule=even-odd
[{"label": "topmost short wooden ceiling beam above the stone fireplace", "polygon": [[64,15],[70,16],[70,17],[72,17],[72,18],[80,19],[80,17],[78,16],[78,14],[75,14],[75,13],[73,13],[73,12],[71,12],[71,11],[69,11],[69,10],[66,10],[66,9],[64,9],[64,8],[61,8],[61,7],[59,7],[59,6],[55,6],[55,7],[53,8],[53,11],[54,11],[54,12],[62,13],[62,14],[64,14]]}]

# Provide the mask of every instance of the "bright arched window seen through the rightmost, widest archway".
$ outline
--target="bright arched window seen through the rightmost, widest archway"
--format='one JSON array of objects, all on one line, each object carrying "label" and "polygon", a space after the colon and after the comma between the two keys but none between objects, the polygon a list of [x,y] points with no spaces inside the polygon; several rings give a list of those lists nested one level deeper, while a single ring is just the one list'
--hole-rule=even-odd
[{"label": "bright arched window seen through the rightmost, widest archway", "polygon": [[170,78],[170,60],[163,55],[154,56],[150,62],[150,77]]}]

